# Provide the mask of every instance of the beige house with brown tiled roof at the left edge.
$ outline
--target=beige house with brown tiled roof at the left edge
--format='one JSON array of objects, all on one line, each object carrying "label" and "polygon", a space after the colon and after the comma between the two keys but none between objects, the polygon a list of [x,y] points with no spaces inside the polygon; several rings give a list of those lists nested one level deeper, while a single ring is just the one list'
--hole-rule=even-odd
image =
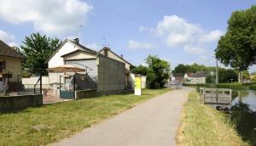
[{"label": "beige house with brown tiled roof at the left edge", "polygon": [[[23,57],[18,48],[11,48],[0,40],[0,91],[3,87],[14,90],[21,84],[21,61]],[[9,81],[8,74],[9,73]]]}]

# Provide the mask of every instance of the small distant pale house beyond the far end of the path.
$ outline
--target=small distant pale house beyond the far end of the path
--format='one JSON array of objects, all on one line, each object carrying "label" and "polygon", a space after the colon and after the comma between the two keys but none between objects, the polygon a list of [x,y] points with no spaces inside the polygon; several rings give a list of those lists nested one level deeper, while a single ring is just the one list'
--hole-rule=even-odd
[{"label": "small distant pale house beyond the far end of the path", "polygon": [[203,72],[185,73],[184,80],[187,84],[205,84],[206,74]]}]

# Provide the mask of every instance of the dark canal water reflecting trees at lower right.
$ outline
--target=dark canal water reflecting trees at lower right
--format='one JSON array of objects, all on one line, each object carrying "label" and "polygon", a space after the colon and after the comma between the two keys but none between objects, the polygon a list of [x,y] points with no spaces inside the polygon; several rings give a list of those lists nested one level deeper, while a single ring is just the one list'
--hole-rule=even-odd
[{"label": "dark canal water reflecting trees at lower right", "polygon": [[230,117],[241,138],[256,146],[256,93],[234,91]]}]

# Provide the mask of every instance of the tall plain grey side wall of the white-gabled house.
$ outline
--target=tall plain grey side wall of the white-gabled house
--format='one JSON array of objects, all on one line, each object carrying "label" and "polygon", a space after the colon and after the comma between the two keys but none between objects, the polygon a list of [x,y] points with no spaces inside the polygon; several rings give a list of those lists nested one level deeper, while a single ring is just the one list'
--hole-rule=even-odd
[{"label": "tall plain grey side wall of the white-gabled house", "polygon": [[97,94],[122,93],[125,89],[125,64],[99,56]]}]

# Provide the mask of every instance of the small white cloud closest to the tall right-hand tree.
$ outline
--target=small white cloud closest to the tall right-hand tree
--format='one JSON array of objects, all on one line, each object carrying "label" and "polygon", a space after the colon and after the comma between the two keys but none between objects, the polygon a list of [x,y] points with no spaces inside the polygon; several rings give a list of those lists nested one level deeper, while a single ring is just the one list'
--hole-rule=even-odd
[{"label": "small white cloud closest to the tall right-hand tree", "polygon": [[215,30],[215,31],[211,31],[210,33],[201,36],[198,39],[198,42],[214,42],[214,41],[218,41],[220,36],[224,35],[224,31],[219,31],[219,30]]}]

